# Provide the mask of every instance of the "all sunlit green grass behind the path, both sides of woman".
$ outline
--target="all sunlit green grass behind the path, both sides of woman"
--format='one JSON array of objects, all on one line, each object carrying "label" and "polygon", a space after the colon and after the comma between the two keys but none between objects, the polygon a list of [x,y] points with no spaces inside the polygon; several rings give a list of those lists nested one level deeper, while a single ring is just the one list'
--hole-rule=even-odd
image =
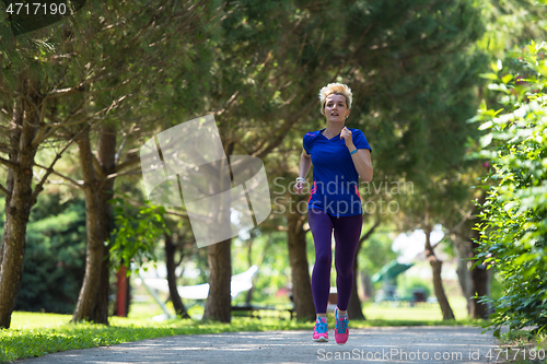
[{"label": "all sunlit green grass behind the path, both sides of woman", "polygon": [[[461,304],[456,301],[451,301],[451,304],[455,313],[459,312],[456,318],[462,319],[457,321],[442,321],[438,305],[392,307],[384,304],[381,306],[368,304],[364,307],[368,319],[351,320],[350,327],[476,324],[462,315]],[[463,301],[465,309],[465,300]],[[193,317],[197,317],[202,314],[202,308],[194,306],[189,312]],[[109,326],[73,325],[70,324],[70,315],[13,313],[11,329],[0,331],[0,363],[72,349],[106,347],[174,334],[312,329],[310,322],[264,317],[271,312],[259,312],[261,319],[233,317],[231,324],[202,322],[197,319],[165,321],[151,319],[161,313],[150,302],[135,303],[131,305],[129,318],[110,317]],[[333,315],[329,315],[328,320],[334,325]]]}]

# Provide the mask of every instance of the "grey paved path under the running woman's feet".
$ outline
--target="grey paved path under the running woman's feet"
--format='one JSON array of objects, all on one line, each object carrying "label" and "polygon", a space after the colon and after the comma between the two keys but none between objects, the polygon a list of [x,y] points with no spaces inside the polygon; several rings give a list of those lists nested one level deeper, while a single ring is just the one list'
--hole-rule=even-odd
[{"label": "grey paved path under the running woman's feet", "polygon": [[[329,334],[334,336],[334,332]],[[350,330],[346,345],[311,340],[312,330],[190,334],[73,350],[18,364],[133,363],[498,363],[498,341],[475,327]],[[493,359],[488,359],[488,353]]]}]

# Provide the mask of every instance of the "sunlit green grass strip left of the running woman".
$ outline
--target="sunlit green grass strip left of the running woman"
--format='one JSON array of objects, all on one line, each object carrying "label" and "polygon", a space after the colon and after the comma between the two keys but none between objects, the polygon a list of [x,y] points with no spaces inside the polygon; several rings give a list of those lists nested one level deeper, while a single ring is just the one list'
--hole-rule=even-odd
[{"label": "sunlit green grass strip left of the running woman", "polygon": [[309,329],[309,322],[275,318],[234,318],[231,324],[195,319],[151,319],[112,317],[110,325],[69,324],[69,315],[14,313],[12,328],[0,331],[0,363],[37,357],[72,349],[107,347],[129,341],[174,334],[235,331]]}]

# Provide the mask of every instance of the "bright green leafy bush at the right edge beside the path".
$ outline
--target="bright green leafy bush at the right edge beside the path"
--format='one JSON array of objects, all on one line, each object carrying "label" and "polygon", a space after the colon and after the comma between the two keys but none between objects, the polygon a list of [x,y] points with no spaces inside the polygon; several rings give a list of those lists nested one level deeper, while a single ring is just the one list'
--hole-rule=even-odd
[{"label": "bright green leafy bush at the right edge beside the path", "polygon": [[[481,156],[491,161],[493,181],[482,206],[479,261],[494,268],[505,295],[493,300],[491,326],[547,325],[547,44],[531,43],[492,64],[490,90],[503,109],[484,105]],[[509,64],[509,70],[502,68]],[[486,300],[486,298],[485,298]]]}]

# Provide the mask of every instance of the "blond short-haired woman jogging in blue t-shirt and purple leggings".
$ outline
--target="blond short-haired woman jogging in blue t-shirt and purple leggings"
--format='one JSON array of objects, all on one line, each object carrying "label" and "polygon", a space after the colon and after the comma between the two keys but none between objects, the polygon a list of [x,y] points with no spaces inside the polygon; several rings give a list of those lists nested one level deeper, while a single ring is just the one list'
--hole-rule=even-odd
[{"label": "blond short-haired woman jogging in blue t-shirt and purple leggings", "polygon": [[335,340],[345,344],[349,334],[347,309],[353,286],[353,258],[363,223],[359,177],[366,183],[372,180],[371,148],[361,130],[345,126],[352,102],[347,85],[329,83],[321,89],[319,99],[326,128],[304,136],[294,191],[302,195],[313,164],[313,186],[307,201],[307,222],[315,245],[312,293],[317,318],[313,340],[328,341],[327,304],[334,232],[338,291]]}]

